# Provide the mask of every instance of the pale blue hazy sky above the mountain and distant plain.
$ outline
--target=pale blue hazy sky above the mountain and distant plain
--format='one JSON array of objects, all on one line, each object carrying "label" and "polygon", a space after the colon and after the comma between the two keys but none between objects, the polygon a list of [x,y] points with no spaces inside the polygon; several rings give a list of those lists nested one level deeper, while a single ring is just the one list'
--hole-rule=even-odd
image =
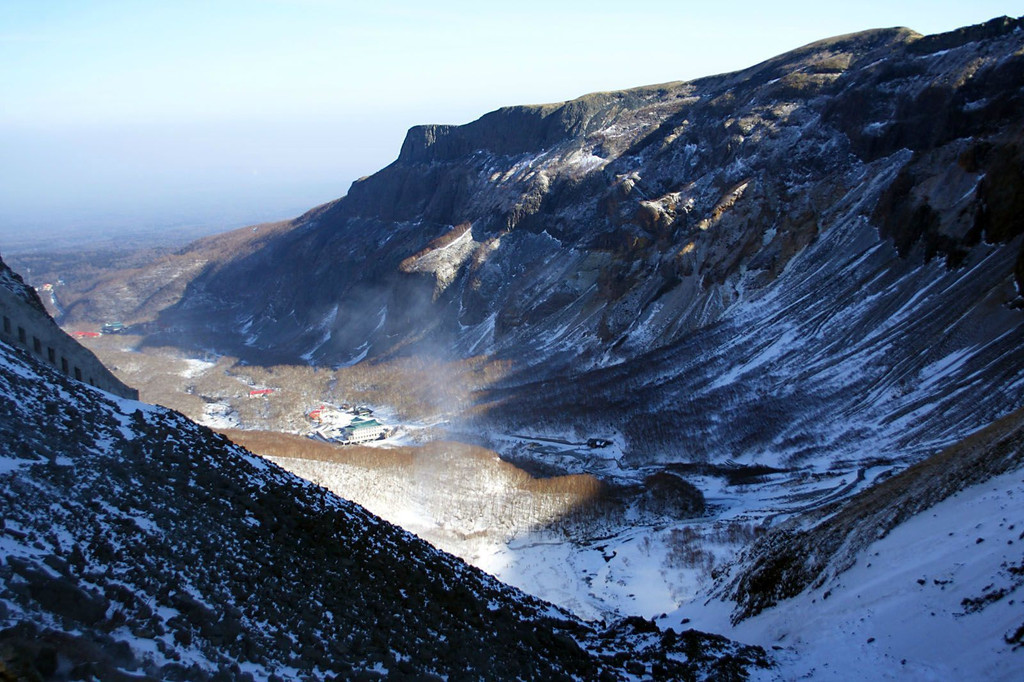
[{"label": "pale blue hazy sky above the mountain and distant plain", "polygon": [[0,251],[294,217],[406,131],[1024,1],[0,1]]}]

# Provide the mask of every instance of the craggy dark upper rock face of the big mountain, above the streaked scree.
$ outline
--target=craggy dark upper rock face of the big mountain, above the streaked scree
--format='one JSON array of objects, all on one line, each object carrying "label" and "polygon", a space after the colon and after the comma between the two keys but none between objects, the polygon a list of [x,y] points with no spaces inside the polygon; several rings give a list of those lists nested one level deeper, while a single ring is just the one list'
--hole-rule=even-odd
[{"label": "craggy dark upper rock face of the big mountain, above the streaked scree", "polygon": [[[226,338],[251,324],[250,345],[328,364],[424,336],[520,352],[556,330],[575,358],[615,342],[630,357],[714,322],[737,287],[770,287],[849,217],[850,191],[902,256],[920,243],[955,265],[1019,233],[1019,24],[866,32],[736,74],[414,128],[392,165],[198,278],[181,307],[229,309]],[[965,197],[929,195],[943,188]],[[258,271],[264,286],[238,291]]]}]

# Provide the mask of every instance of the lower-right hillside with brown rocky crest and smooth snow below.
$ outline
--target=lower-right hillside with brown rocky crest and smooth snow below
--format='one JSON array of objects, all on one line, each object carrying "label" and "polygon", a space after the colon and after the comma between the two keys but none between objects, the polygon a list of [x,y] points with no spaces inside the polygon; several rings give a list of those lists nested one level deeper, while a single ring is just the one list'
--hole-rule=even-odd
[{"label": "lower-right hillside with brown rocky crest and smooth snow below", "polygon": [[776,528],[665,623],[772,647],[787,679],[1020,679],[1022,467],[1018,412]]}]

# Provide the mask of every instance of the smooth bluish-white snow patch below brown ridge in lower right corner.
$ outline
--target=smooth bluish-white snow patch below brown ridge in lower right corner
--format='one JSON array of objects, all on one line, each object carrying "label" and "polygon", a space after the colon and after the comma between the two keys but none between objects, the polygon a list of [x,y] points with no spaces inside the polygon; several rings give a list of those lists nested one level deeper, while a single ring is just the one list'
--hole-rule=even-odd
[{"label": "smooth bluish-white snow patch below brown ridge in lower right corner", "polygon": [[772,649],[782,679],[1019,680],[1024,471],[940,502],[849,570],[735,627],[733,607],[698,600],[659,624]]}]

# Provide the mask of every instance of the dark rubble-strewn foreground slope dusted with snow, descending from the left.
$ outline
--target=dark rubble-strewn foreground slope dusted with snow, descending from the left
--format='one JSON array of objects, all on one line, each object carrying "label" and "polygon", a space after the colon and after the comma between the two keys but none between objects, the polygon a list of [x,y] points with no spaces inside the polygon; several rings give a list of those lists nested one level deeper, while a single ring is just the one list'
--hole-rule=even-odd
[{"label": "dark rubble-strewn foreground slope dusted with snow, descending from the left", "polygon": [[0,343],[2,679],[741,678],[588,625],[180,415]]}]

